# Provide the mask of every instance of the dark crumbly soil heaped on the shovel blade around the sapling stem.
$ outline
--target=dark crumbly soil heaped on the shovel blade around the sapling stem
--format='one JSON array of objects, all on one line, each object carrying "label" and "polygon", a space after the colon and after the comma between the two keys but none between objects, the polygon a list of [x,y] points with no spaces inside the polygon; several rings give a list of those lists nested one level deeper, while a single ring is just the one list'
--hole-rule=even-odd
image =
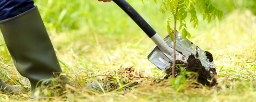
[{"label": "dark crumbly soil heaped on the shovel blade around the sapling stem", "polygon": [[[208,51],[205,52],[207,59],[212,62],[212,54]],[[171,64],[172,66],[172,64]],[[187,63],[183,61],[177,61],[176,63],[176,69],[175,73],[176,76],[180,75],[180,67],[185,68],[186,71],[193,71],[197,74],[197,82],[201,83],[203,85],[207,85],[209,87],[216,85],[217,82],[217,72],[215,68],[210,68],[206,70],[206,68],[202,65],[201,61],[199,59],[195,58],[195,55],[191,54],[188,57]],[[172,74],[172,67],[166,68],[167,75],[164,77],[165,79],[168,79]],[[189,77],[186,77],[189,78]]]}]

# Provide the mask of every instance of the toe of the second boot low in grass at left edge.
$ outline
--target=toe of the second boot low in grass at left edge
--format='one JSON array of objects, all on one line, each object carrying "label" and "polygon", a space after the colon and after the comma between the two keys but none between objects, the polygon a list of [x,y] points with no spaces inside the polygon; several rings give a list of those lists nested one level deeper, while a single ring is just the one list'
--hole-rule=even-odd
[{"label": "toe of the second boot low in grass at left edge", "polygon": [[21,85],[7,85],[1,79],[0,79],[0,89],[1,89],[1,92],[8,92],[8,93],[12,93],[18,89],[24,90],[24,88]]}]

